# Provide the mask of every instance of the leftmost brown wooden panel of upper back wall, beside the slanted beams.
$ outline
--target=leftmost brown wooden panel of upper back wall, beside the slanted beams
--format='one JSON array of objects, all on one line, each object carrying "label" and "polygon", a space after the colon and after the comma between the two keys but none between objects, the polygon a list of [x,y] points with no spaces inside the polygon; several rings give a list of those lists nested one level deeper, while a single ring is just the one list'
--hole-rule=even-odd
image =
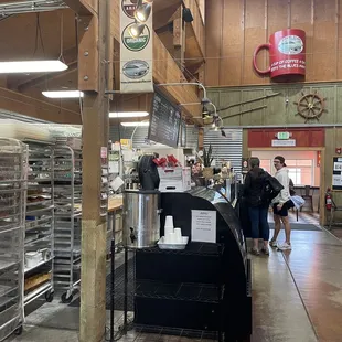
[{"label": "leftmost brown wooden panel of upper back wall, beside the slanted beams", "polygon": [[222,43],[222,10],[223,0],[205,1],[205,12],[210,13],[205,22],[205,84],[218,85],[220,56]]}]

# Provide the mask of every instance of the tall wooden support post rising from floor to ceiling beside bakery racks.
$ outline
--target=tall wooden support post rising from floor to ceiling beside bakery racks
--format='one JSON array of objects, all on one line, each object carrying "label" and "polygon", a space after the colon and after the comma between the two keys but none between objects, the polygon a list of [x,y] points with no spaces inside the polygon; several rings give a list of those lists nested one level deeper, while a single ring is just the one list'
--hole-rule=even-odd
[{"label": "tall wooden support post rising from floor to ceiling beside bakery racks", "polygon": [[[90,81],[87,83],[79,79],[79,89],[85,92],[79,342],[103,341],[106,325],[107,217],[100,215],[100,195],[101,148],[108,146],[109,128],[109,100],[105,95],[109,81],[109,67],[106,63],[110,60],[110,46],[107,42],[110,36],[109,14],[109,1],[98,1],[98,18],[87,18],[89,25],[84,30],[78,49],[79,52],[89,53],[86,62],[86,55],[79,55],[79,72],[86,71]],[[84,23],[83,20],[81,24]]]}]

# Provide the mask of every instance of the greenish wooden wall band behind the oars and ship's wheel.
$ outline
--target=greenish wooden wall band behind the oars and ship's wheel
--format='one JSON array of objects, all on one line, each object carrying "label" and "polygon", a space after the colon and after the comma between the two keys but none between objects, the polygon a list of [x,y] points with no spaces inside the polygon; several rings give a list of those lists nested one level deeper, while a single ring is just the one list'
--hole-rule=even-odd
[{"label": "greenish wooden wall band behind the oars and ship's wheel", "polygon": [[[228,110],[221,111],[222,117],[239,113],[244,109],[258,107],[266,105],[267,108],[263,110],[261,116],[252,116],[252,114],[245,114],[245,118],[241,120],[229,119],[225,124],[228,125],[243,125],[243,126],[270,126],[270,125],[303,125],[304,119],[296,115],[297,105],[303,96],[302,94],[311,94],[317,90],[321,97],[327,97],[325,108],[328,113],[324,113],[320,120],[311,120],[307,124],[341,124],[342,122],[342,85],[339,84],[289,84],[287,85],[265,85],[253,87],[226,87],[226,88],[211,88],[209,89],[209,97],[211,98],[213,93],[220,90],[220,103],[213,99],[213,103],[218,108],[226,107],[228,105],[243,101],[249,98],[257,98],[264,95],[270,95],[280,93],[277,96],[269,97],[264,100],[255,101],[246,106],[231,108]],[[237,94],[241,93],[241,98]],[[288,104],[286,103],[288,100]],[[247,118],[249,117],[250,120]]]}]

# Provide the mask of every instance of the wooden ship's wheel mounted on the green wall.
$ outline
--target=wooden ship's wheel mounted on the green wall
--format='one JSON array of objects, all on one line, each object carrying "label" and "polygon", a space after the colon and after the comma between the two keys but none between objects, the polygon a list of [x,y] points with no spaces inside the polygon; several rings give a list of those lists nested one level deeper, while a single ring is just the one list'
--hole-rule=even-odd
[{"label": "wooden ship's wheel mounted on the green wall", "polygon": [[324,101],[327,98],[321,97],[317,94],[317,92],[312,94],[304,94],[301,92],[301,98],[298,103],[293,103],[297,105],[297,115],[300,115],[306,119],[306,122],[309,120],[320,120],[321,115],[327,111]]}]

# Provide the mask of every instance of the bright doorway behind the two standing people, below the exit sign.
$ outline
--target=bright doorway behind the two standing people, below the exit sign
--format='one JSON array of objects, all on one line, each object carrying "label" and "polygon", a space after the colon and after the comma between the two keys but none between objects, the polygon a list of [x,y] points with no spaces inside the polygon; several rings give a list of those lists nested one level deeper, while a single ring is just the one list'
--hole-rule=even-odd
[{"label": "bright doorway behind the two standing people, below the exit sign", "polygon": [[[260,167],[270,174],[275,174],[274,158],[282,156],[289,170],[289,177],[293,182],[297,195],[306,200],[300,210],[290,210],[290,222],[306,225],[320,224],[322,193],[322,150],[308,149],[249,149],[250,157],[260,159]],[[322,218],[322,217],[321,217]],[[269,222],[272,214],[269,213]]]}]

